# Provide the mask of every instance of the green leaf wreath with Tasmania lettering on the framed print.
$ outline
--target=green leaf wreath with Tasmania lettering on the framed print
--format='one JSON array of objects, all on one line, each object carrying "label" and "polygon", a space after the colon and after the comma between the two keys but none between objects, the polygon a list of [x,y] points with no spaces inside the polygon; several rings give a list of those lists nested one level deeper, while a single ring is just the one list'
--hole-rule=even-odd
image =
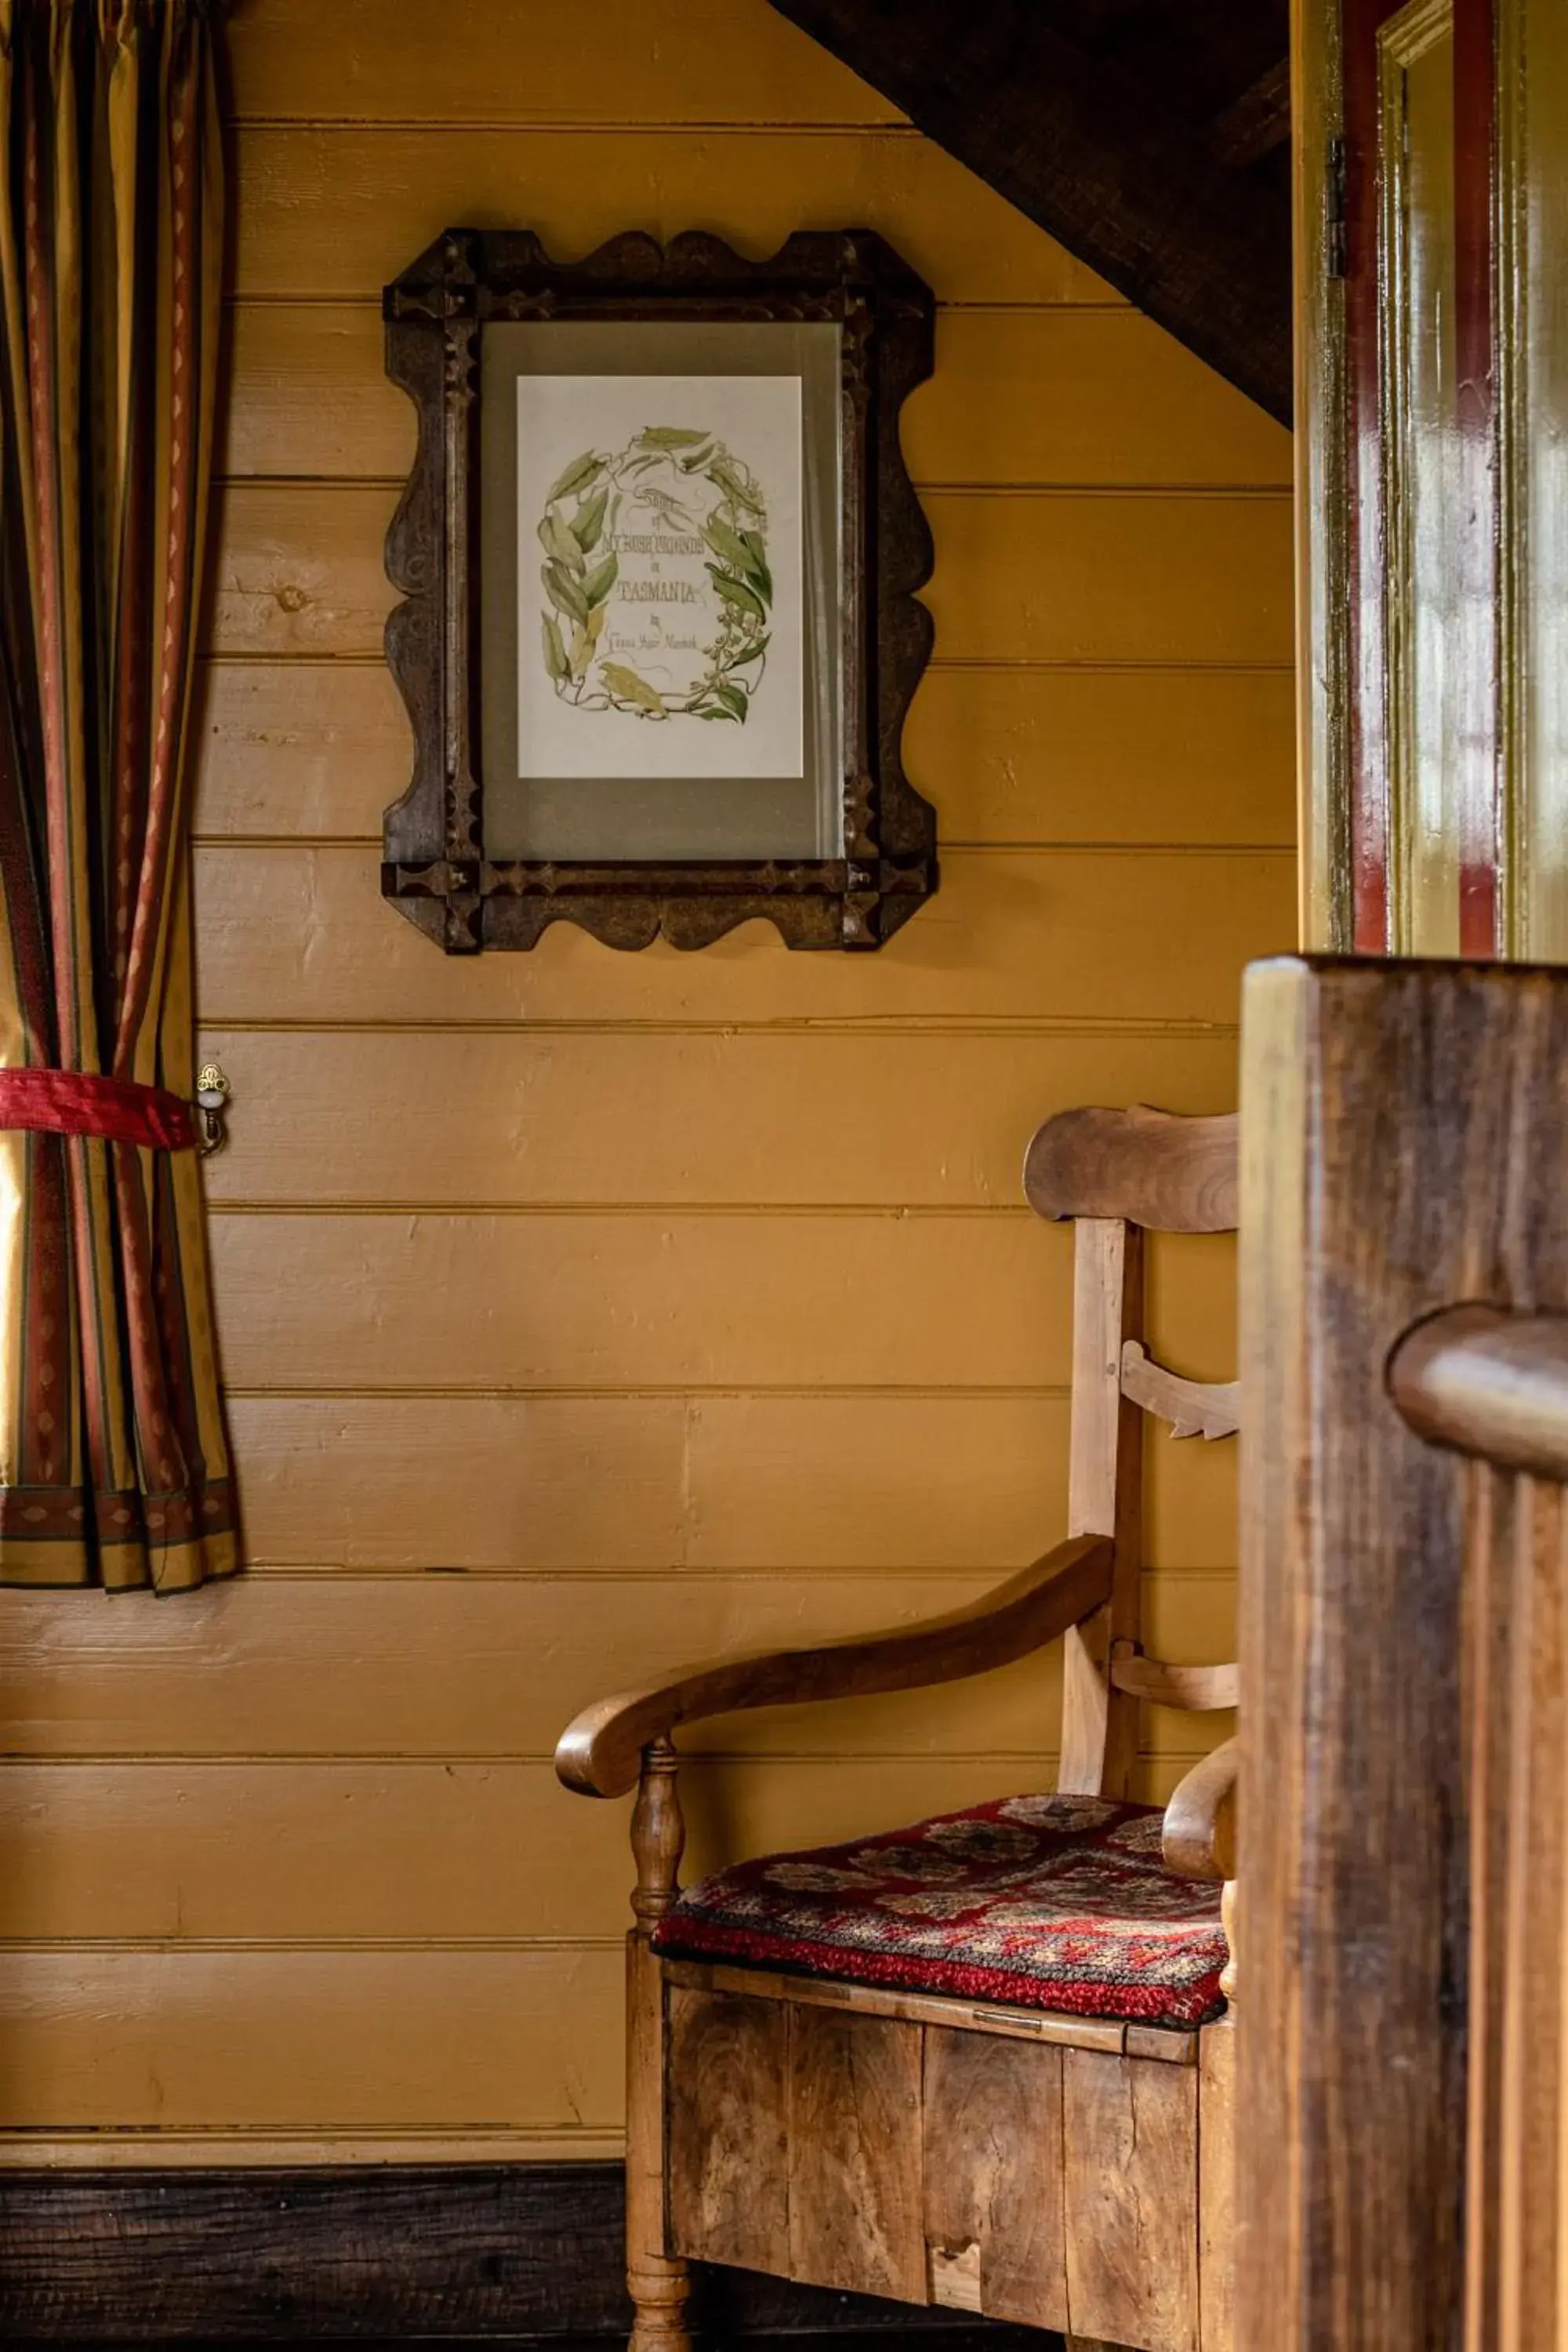
[{"label": "green leaf wreath with Tasmania lettering on the framed print", "polygon": [[[614,454],[576,456],[538,520],[543,663],[557,699],[745,727],[769,654],[766,527],[757,475],[715,433],[644,426]],[[625,557],[637,557],[635,576],[623,576]],[[607,635],[614,600],[637,604],[635,637]]]}]

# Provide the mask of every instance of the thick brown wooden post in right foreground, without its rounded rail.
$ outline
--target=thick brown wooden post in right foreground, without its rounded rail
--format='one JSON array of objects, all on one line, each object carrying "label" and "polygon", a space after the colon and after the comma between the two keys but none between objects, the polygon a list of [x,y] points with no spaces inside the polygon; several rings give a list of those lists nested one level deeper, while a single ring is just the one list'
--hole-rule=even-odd
[{"label": "thick brown wooden post in right foreground, without its rounded rail", "polygon": [[1387,1383],[1439,1310],[1568,1308],[1568,974],[1281,960],[1244,1037],[1237,2340],[1533,2352],[1559,1494],[1427,1444]]}]

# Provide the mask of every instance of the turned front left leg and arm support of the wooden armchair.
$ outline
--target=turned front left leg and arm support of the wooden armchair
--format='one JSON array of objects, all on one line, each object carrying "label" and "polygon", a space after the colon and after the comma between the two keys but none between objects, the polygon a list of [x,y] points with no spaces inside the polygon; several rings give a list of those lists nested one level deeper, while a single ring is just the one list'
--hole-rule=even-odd
[{"label": "turned front left leg and arm support of the wooden armchair", "polygon": [[691,2272],[665,2253],[665,2004],[651,1933],[677,1891],[686,1825],[675,1790],[670,1740],[642,1750],[632,1809],[637,1886],[625,1957],[625,2284],[632,2298],[632,2352],[691,2352]]}]

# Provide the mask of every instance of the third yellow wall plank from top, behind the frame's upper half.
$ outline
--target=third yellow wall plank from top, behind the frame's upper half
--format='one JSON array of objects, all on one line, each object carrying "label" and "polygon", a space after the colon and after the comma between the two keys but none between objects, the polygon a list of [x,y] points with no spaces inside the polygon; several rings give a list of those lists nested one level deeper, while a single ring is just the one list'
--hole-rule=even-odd
[{"label": "third yellow wall plank from top, behind the frame's upper half", "polygon": [[[1138,310],[943,310],[903,412],[917,482],[1291,485],[1291,435]],[[223,470],[362,480],[414,459],[381,308],[240,303]]]}]

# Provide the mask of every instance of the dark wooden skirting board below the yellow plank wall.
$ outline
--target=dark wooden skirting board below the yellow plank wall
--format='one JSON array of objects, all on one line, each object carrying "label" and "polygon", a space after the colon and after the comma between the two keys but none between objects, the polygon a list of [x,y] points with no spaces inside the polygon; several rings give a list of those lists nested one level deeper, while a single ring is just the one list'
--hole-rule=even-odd
[{"label": "dark wooden skirting board below the yellow plank wall", "polygon": [[[0,2180],[0,2343],[625,2340],[618,2164],[35,2171]],[[710,2272],[705,2345],[1058,2352],[1034,2328]]]}]

